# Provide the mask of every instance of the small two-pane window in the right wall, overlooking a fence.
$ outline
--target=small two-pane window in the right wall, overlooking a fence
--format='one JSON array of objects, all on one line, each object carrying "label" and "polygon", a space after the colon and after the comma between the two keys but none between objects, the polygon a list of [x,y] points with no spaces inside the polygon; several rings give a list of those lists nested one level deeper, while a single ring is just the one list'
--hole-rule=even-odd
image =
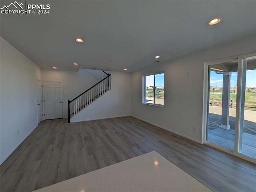
[{"label": "small two-pane window in the right wall, overlooking a fence", "polygon": [[143,103],[164,106],[164,72],[143,76]]}]

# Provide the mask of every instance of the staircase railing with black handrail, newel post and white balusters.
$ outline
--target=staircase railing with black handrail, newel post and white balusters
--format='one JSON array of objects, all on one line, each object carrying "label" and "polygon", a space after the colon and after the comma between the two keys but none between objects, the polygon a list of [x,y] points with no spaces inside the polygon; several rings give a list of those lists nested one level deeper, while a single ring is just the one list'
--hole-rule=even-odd
[{"label": "staircase railing with black handrail, newel post and white balusters", "polygon": [[94,102],[96,99],[111,89],[110,73],[92,69],[86,69],[86,71],[88,71],[100,81],[85,92],[78,95],[76,98],[68,100],[68,123],[70,123],[70,118],[78,114],[78,112],[86,108],[88,105],[90,105],[92,102]]}]

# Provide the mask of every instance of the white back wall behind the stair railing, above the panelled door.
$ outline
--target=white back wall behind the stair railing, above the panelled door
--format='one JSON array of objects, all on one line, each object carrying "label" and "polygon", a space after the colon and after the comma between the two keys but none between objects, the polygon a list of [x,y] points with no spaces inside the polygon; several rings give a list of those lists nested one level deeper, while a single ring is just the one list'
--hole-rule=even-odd
[{"label": "white back wall behind the stair railing, above the panelled door", "polygon": [[80,69],[79,71],[42,69],[42,80],[62,82],[63,118],[68,118],[68,99],[74,99],[76,96],[99,82],[98,79],[84,69]]}]

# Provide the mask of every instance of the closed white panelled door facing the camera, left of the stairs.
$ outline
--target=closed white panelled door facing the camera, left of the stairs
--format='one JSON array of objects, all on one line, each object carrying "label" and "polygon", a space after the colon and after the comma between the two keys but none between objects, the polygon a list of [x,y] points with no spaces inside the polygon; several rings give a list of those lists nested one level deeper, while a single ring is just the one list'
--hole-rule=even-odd
[{"label": "closed white panelled door facing the camera, left of the stairs", "polygon": [[62,82],[44,82],[44,116],[62,118]]}]

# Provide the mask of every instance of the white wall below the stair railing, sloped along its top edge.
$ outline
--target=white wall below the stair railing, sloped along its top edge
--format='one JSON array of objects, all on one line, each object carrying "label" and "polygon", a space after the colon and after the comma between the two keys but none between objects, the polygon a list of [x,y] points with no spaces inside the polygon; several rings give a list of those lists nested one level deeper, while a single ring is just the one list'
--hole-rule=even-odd
[{"label": "white wall below the stair railing, sloped along its top edge", "polygon": [[113,72],[111,90],[71,118],[71,122],[130,116],[131,74]]}]

